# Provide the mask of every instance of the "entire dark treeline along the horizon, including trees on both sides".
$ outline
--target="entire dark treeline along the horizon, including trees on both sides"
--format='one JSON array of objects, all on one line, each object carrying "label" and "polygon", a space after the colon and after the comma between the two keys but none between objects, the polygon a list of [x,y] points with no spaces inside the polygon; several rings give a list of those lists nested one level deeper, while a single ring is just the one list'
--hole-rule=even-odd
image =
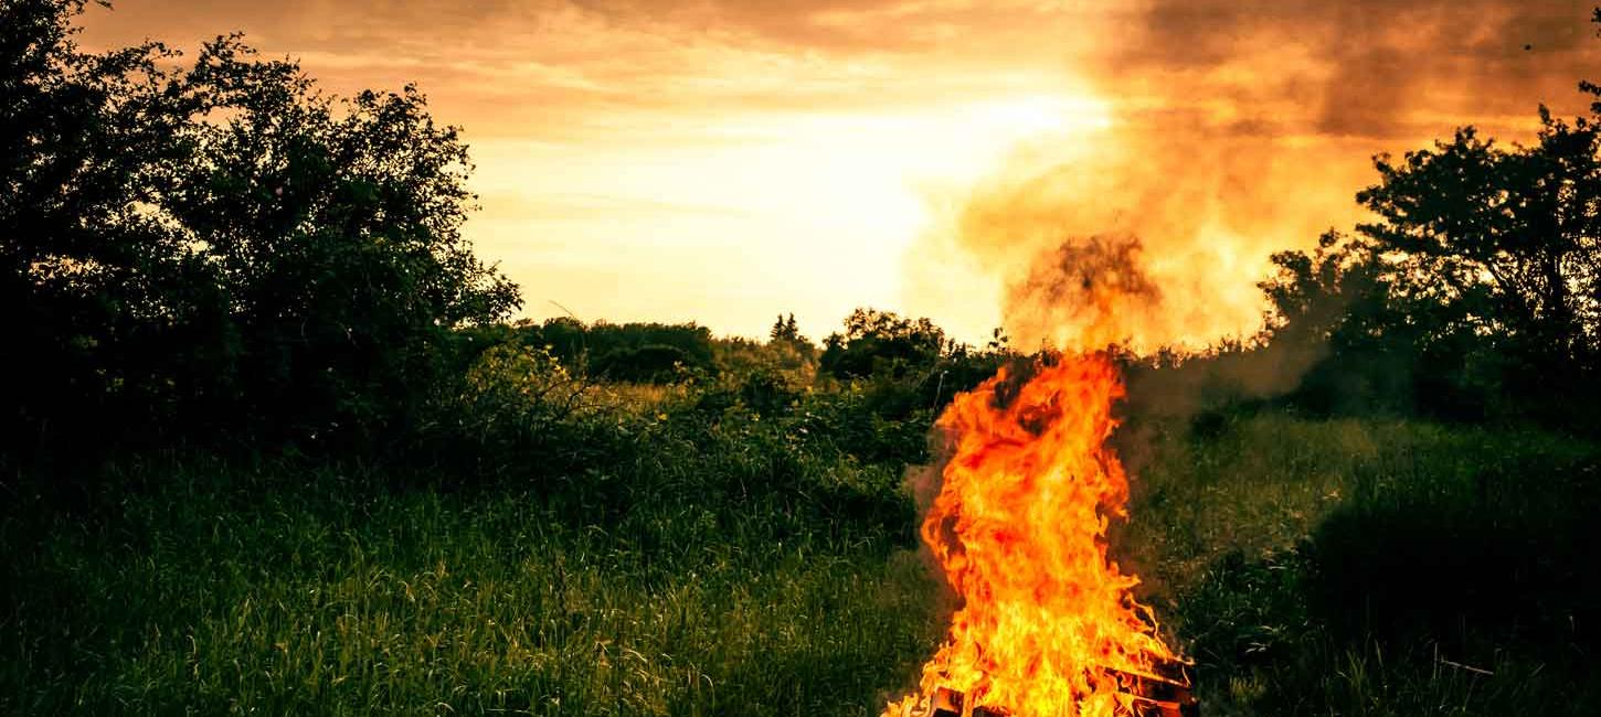
[{"label": "entire dark treeline along the horizon, including trees on both sides", "polygon": [[[696,325],[508,325],[517,286],[461,235],[466,146],[415,88],[330,98],[239,37],[189,61],[157,42],[85,53],[82,8],[0,3],[8,461],[173,445],[403,453],[467,423],[485,362],[724,387],[719,400],[767,413],[850,389],[905,421],[1021,358],[999,333],[970,347],[871,309],[821,346],[792,315],[767,342]],[[1601,146],[1595,117],[1540,122],[1529,146],[1465,128],[1378,158],[1358,195],[1374,222],[1274,256],[1263,334],[1129,362],[1199,386],[1191,397],[1588,423]],[[1271,391],[1250,386],[1263,376]]]}]

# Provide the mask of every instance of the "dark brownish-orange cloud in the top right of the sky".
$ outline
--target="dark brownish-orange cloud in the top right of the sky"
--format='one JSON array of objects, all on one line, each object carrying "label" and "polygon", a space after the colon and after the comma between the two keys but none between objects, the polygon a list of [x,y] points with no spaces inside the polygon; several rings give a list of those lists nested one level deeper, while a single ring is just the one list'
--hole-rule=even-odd
[{"label": "dark brownish-orange cloud in the top right of the sky", "polygon": [[1593,67],[1587,2],[1156,0],[1103,56],[1103,78],[1172,77],[1175,101],[1298,115],[1316,133],[1412,138],[1569,104]]}]

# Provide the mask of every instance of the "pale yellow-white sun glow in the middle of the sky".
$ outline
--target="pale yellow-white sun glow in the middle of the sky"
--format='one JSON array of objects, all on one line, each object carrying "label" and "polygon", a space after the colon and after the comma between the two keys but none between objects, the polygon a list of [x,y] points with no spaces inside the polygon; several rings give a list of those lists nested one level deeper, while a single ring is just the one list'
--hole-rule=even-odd
[{"label": "pale yellow-white sun glow in the middle of the sky", "polygon": [[[664,120],[620,122],[648,136]],[[930,190],[961,194],[1020,142],[1082,142],[1109,125],[1095,98],[1039,93],[736,115],[607,149],[480,142],[485,216],[469,230],[527,277],[535,318],[559,312],[548,299],[610,320],[696,320],[714,302],[735,331],[760,334],[773,312],[794,310],[821,334],[855,306],[900,304],[900,272],[885,267],[929,226]],[[637,261],[618,266],[616,254]],[[823,290],[797,299],[794,286]],[[655,296],[648,315],[642,294]]]}]

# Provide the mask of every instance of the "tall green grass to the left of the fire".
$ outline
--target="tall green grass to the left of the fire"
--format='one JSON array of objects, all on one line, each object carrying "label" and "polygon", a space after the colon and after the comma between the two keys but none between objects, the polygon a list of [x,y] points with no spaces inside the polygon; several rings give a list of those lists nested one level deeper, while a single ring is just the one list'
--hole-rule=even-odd
[{"label": "tall green grass to the left of the fire", "polygon": [[[871,541],[176,471],[109,519],[0,523],[0,711],[865,714],[937,637],[925,573]],[[642,522],[672,541],[642,547]]]}]

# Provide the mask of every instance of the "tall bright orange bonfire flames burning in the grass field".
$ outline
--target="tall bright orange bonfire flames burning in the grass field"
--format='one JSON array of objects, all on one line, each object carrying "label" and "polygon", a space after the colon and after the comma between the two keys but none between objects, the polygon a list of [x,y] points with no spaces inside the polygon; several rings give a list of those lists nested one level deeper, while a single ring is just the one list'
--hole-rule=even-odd
[{"label": "tall bright orange bonfire flames burning in the grass field", "polygon": [[962,714],[1127,715],[1130,679],[1164,680],[1159,667],[1178,659],[1134,600],[1138,578],[1106,557],[1108,520],[1129,498],[1106,445],[1117,368],[1068,354],[1021,387],[1010,379],[1001,370],[940,418],[954,453],[922,538],[962,607],[921,691],[889,717],[935,714],[941,690],[965,695]]}]

